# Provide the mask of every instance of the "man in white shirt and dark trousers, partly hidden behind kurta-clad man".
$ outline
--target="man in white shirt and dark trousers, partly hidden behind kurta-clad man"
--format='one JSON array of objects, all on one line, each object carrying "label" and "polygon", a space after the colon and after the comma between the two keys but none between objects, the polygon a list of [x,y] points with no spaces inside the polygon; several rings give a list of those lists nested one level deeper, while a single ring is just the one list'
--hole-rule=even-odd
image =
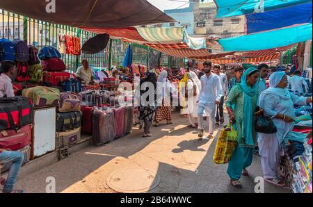
[{"label": "man in white shirt and dark trousers, partly hidden behind kurta-clad man", "polygon": [[227,76],[226,74],[220,72],[220,65],[216,64],[214,65],[214,74],[220,78],[220,84],[222,85],[222,90],[223,90],[223,96],[220,98],[220,104],[217,105],[216,109],[216,125],[219,124],[224,124],[224,97],[227,95],[227,90],[228,90],[228,81],[227,81]]}]

